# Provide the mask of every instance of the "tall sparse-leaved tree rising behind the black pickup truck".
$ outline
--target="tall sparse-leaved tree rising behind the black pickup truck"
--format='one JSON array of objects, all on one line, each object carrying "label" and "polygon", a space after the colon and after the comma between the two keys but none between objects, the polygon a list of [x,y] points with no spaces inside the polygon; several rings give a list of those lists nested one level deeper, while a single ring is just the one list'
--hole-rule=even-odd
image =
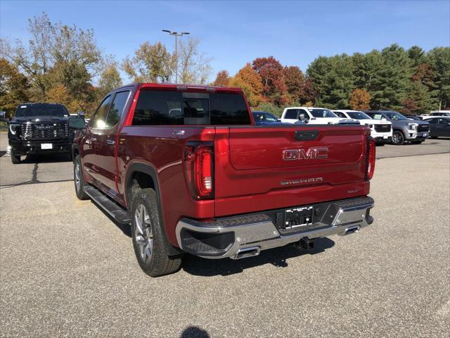
[{"label": "tall sparse-leaved tree rising behind the black pickup truck", "polygon": [[1,54],[27,76],[30,99],[49,101],[50,89],[60,92],[64,87],[78,106],[93,104],[96,96],[91,82],[102,66],[94,32],[51,23],[46,13],[30,19],[28,31],[31,38],[27,45],[19,40],[12,46],[3,40]]}]

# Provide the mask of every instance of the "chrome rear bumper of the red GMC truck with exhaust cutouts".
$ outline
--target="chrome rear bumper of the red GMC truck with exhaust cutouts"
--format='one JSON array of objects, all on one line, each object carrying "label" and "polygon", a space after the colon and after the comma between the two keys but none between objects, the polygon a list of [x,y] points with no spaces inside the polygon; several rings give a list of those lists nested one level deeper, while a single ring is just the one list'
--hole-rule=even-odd
[{"label": "chrome rear bumper of the red GMC truck with exhaust cutouts", "polygon": [[330,202],[312,228],[288,234],[281,233],[274,219],[266,213],[222,218],[214,222],[183,218],[176,225],[176,239],[181,249],[203,258],[257,256],[259,251],[304,238],[357,232],[373,223],[369,214],[373,205],[371,197]]}]

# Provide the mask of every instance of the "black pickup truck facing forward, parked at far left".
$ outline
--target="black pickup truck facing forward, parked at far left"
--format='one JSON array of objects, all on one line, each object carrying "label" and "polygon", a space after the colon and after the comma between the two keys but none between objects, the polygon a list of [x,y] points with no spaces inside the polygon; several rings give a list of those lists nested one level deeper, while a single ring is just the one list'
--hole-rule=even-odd
[{"label": "black pickup truck facing forward, parked at far left", "polygon": [[70,156],[74,131],[69,128],[70,114],[62,104],[20,104],[8,123],[11,162],[20,156],[49,152]]}]

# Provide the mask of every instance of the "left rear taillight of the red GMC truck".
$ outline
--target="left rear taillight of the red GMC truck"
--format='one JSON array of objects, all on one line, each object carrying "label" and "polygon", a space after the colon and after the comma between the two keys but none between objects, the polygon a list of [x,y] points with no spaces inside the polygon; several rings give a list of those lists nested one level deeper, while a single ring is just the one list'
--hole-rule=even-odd
[{"label": "left rear taillight of the red GMC truck", "polygon": [[214,146],[210,142],[186,145],[184,163],[193,198],[214,198]]}]

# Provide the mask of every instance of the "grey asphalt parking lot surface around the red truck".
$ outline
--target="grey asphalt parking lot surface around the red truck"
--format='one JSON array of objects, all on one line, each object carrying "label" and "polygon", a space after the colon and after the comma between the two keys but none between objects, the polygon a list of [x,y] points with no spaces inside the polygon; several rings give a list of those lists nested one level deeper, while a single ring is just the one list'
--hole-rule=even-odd
[{"label": "grey asphalt parking lot surface around the red truck", "polygon": [[77,200],[63,156],[0,135],[1,337],[449,337],[450,139],[380,146],[375,223],[240,261],[141,272],[129,229]]}]

